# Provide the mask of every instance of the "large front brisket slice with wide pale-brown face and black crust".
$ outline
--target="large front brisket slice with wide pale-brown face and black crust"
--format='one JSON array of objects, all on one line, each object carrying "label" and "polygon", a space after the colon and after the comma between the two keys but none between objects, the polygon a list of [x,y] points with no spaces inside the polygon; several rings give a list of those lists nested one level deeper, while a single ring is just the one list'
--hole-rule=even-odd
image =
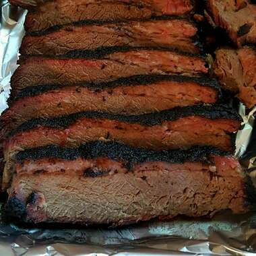
[{"label": "large front brisket slice with wide pale-brown face and black crust", "polygon": [[73,151],[33,149],[17,161],[5,214],[23,222],[120,226],[251,207],[240,164],[213,151],[149,152],[98,141]]}]

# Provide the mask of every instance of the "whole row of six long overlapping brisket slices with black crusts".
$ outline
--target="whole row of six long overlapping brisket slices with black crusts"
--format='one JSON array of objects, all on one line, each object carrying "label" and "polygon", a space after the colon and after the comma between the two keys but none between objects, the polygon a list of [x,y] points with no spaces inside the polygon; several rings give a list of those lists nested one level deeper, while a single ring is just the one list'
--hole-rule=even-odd
[{"label": "whole row of six long overlapping brisket slices with black crusts", "polygon": [[121,225],[250,209],[232,156],[241,120],[207,77],[189,0],[11,3],[30,11],[1,117],[8,216]]}]

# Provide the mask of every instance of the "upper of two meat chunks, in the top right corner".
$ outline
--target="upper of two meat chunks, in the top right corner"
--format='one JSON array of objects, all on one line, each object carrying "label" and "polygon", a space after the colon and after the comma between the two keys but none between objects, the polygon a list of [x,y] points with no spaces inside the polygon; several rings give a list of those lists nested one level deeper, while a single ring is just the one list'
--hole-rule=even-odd
[{"label": "upper of two meat chunks, in the top right corner", "polygon": [[209,14],[215,26],[226,30],[234,44],[256,43],[256,5],[250,1],[208,0]]}]

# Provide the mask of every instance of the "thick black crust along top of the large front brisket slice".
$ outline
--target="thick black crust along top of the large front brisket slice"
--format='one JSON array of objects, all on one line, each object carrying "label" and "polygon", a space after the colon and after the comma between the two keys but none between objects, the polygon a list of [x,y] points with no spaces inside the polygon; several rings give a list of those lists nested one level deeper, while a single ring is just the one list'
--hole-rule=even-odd
[{"label": "thick black crust along top of the large front brisket slice", "polygon": [[129,163],[125,166],[132,168],[134,163],[140,162],[197,162],[207,161],[212,155],[226,156],[228,152],[222,152],[216,148],[203,146],[194,147],[190,150],[148,150],[144,148],[133,148],[123,143],[115,141],[90,141],[78,148],[61,148],[51,145],[40,148],[32,148],[18,152],[15,160],[22,162],[25,159],[41,159],[41,158],[60,158],[66,160],[75,160],[77,158],[94,159],[98,157],[106,157],[111,160]]}]

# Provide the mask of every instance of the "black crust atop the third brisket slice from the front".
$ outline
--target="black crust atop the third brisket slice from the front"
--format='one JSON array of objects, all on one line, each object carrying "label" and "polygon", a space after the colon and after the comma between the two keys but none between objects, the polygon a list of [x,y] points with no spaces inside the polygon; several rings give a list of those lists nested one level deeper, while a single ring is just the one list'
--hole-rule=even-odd
[{"label": "black crust atop the third brisket slice from the front", "polygon": [[[207,76],[203,77],[187,77],[183,75],[132,75],[129,77],[121,77],[111,82],[103,82],[103,83],[88,83],[88,84],[73,84],[70,86],[80,86],[86,87],[90,90],[94,91],[102,91],[108,88],[117,88],[121,86],[139,86],[139,85],[150,85],[157,82],[195,82],[200,86],[211,87],[218,91],[218,98],[222,98],[222,87],[218,84],[217,79],[210,78]],[[63,88],[63,85],[39,85],[39,86],[30,86],[28,88],[24,88],[19,92],[15,98],[12,98],[8,101],[11,103],[13,100],[18,100],[19,98],[32,97],[38,94],[42,94],[44,92],[48,92],[49,90],[56,90],[59,88]]]}]

